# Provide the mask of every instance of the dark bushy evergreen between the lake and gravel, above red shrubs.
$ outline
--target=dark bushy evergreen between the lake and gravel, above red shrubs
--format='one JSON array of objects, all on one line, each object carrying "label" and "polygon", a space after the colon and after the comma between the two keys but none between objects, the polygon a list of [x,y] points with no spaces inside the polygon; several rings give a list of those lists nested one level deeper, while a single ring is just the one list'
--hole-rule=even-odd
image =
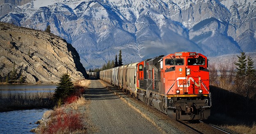
[{"label": "dark bushy evergreen between the lake and gravel, above red shrubs", "polygon": [[54,99],[62,103],[67,96],[73,94],[74,92],[75,87],[71,81],[69,74],[63,74],[55,89]]}]

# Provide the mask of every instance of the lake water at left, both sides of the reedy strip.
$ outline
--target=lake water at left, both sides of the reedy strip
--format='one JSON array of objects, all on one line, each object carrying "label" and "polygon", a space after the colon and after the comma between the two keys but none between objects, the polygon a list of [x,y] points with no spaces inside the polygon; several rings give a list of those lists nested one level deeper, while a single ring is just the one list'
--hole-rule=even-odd
[{"label": "lake water at left, both sides of the reedy strip", "polygon": [[[7,94],[36,94],[54,92],[57,85],[0,85],[0,95]],[[15,110],[0,112],[0,133],[1,134],[33,134],[34,124],[42,118],[43,113],[48,109]]]}]

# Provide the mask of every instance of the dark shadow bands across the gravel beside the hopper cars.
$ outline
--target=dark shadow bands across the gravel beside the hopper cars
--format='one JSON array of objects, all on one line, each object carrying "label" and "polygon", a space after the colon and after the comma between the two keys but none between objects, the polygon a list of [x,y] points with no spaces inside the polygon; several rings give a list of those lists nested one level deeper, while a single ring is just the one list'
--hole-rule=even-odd
[{"label": "dark shadow bands across the gravel beside the hopper cars", "polygon": [[114,92],[107,90],[107,88],[86,89],[83,96],[85,97],[85,99],[89,100],[106,100],[120,98],[119,96],[115,95]]}]

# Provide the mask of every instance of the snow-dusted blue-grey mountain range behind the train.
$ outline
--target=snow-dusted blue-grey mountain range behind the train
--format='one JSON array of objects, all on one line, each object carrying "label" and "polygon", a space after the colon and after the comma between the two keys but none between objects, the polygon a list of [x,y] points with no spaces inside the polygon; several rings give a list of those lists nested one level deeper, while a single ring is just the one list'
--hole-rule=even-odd
[{"label": "snow-dusted blue-grey mountain range behind the train", "polygon": [[[7,2],[6,2],[7,1]],[[256,0],[5,0],[0,20],[61,36],[85,68],[177,51],[256,51]]]}]

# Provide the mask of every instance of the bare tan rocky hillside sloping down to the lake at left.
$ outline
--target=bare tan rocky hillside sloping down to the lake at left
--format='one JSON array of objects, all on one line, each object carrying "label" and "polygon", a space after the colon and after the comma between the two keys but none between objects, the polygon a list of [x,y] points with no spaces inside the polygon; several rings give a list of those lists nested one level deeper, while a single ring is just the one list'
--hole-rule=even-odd
[{"label": "bare tan rocky hillside sloping down to the lake at left", "polygon": [[58,83],[64,73],[87,77],[80,57],[66,40],[52,33],[0,22],[0,76],[15,69],[27,83]]}]

